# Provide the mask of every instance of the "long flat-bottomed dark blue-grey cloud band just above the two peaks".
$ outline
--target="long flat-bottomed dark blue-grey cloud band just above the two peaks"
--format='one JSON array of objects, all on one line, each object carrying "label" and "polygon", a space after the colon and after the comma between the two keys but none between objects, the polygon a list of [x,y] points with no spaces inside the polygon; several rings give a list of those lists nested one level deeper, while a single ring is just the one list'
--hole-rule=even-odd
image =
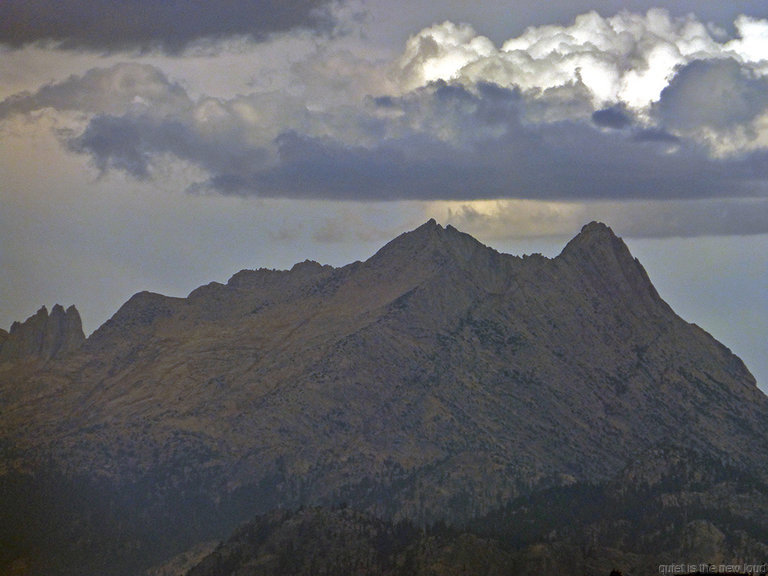
[{"label": "long flat-bottomed dark blue-grey cloud band just above the two peaks", "polygon": [[749,182],[766,160],[712,162],[696,150],[670,153],[666,142],[636,143],[574,122],[461,145],[412,135],[363,148],[295,134],[278,144],[279,164],[253,173],[241,193],[357,200],[739,197],[757,193]]}]

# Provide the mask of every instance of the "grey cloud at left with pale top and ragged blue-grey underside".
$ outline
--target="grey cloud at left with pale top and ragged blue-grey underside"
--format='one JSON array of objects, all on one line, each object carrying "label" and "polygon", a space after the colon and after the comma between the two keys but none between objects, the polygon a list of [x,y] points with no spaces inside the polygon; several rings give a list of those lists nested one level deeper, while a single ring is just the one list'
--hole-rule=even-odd
[{"label": "grey cloud at left with pale top and ragged blue-grey underside", "polygon": [[306,128],[306,108],[289,96],[193,100],[157,67],[136,63],[95,68],[16,94],[0,102],[0,121],[44,110],[85,117],[80,132],[62,130],[60,136],[68,149],[90,155],[102,173],[149,179],[176,158],[222,186],[263,165],[268,145],[282,131]]}]

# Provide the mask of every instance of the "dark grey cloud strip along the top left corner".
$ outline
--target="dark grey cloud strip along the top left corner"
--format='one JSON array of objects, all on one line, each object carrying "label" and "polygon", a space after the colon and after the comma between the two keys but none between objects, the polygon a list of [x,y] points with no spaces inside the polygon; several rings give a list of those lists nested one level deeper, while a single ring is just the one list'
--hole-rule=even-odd
[{"label": "dark grey cloud strip along the top left corner", "polygon": [[329,29],[331,0],[3,0],[0,43],[179,52],[200,39]]}]

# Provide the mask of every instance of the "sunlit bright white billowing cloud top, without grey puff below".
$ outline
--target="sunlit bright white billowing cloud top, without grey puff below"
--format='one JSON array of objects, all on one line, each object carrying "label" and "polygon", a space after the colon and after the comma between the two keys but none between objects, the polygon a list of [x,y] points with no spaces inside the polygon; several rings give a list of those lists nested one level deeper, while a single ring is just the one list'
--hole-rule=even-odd
[{"label": "sunlit bright white billowing cloud top, without grey puff below", "polygon": [[740,17],[735,26],[740,38],[720,43],[693,16],[673,18],[661,9],[609,18],[590,12],[570,26],[528,28],[497,49],[471,27],[445,22],[412,36],[400,66],[407,89],[435,80],[490,81],[525,91],[582,83],[595,108],[622,103],[644,111],[676,70],[694,60],[732,57],[760,70],[768,22]]}]

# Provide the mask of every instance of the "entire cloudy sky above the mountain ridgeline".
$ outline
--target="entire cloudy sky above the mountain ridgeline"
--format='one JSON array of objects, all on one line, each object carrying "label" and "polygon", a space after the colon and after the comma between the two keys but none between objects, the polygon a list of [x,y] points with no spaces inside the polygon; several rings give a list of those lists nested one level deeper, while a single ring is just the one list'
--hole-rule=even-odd
[{"label": "entire cloudy sky above the mountain ridgeline", "polygon": [[768,390],[768,5],[3,0],[0,327],[600,220]]}]

